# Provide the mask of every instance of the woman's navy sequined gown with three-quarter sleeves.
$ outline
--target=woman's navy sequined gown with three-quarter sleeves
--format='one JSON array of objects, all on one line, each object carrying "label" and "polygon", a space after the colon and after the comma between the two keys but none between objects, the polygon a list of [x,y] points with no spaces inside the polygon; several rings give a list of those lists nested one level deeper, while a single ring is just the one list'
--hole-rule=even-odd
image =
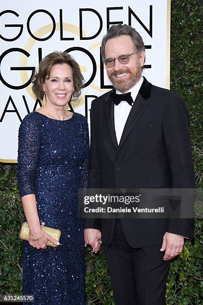
[{"label": "woman's navy sequined gown with three-quarter sleeves", "polygon": [[20,125],[20,196],[35,194],[40,222],[62,232],[57,248],[38,250],[24,242],[23,295],[34,295],[35,305],[85,304],[78,189],[87,184],[88,155],[88,123],[78,113],[59,121],[32,112]]}]

